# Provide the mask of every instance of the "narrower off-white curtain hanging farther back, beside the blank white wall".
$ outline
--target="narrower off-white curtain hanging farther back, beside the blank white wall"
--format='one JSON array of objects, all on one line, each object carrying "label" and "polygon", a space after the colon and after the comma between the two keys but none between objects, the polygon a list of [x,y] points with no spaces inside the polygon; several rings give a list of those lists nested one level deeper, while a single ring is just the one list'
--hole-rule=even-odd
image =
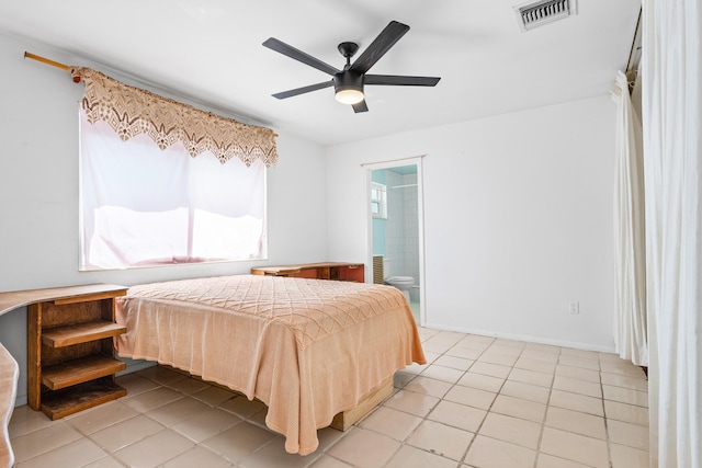
[{"label": "narrower off-white curtain hanging farther back, beside the blank white wall", "polygon": [[621,71],[612,99],[616,103],[614,342],[620,357],[647,366],[642,126],[629,94],[626,76]]}]

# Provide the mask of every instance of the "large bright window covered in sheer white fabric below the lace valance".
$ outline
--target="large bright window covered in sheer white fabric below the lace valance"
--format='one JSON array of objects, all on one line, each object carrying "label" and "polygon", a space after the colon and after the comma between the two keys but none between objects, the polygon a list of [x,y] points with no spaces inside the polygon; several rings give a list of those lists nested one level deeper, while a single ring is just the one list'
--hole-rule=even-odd
[{"label": "large bright window covered in sheer white fabric below the lace valance", "polygon": [[123,141],[81,109],[81,270],[267,256],[265,164]]}]

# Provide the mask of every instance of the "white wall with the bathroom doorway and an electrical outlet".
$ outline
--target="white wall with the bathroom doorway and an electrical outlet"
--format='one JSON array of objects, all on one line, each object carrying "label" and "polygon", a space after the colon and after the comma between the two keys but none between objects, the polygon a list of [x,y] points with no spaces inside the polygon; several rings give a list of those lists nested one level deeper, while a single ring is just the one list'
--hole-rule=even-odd
[{"label": "white wall with the bathroom doorway and an electrical outlet", "polygon": [[601,96],[327,148],[330,256],[367,254],[361,163],[427,155],[427,324],[612,351],[613,128]]}]

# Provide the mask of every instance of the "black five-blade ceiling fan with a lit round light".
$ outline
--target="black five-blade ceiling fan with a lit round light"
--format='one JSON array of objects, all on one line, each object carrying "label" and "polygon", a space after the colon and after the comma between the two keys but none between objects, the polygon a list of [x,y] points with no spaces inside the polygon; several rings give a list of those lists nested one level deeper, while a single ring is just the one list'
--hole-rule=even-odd
[{"label": "black five-blade ceiling fan with a lit round light", "polygon": [[359,50],[355,43],[341,43],[338,48],[347,59],[342,70],[337,69],[324,61],[305,54],[304,52],[287,45],[275,37],[270,37],[263,42],[263,46],[279,52],[283,55],[302,61],[305,65],[331,75],[331,80],[316,84],[309,84],[294,90],[283,91],[273,94],[278,99],[292,98],[310,91],[333,87],[337,101],[343,104],[351,104],[354,112],[367,112],[369,107],[363,95],[365,84],[405,85],[405,87],[434,87],[441,78],[433,77],[407,77],[397,75],[366,75],[373,65],[381,59],[407,32],[409,26],[397,21],[390,21],[387,26],[377,35],[375,41],[363,50],[363,53],[351,64],[351,57]]}]

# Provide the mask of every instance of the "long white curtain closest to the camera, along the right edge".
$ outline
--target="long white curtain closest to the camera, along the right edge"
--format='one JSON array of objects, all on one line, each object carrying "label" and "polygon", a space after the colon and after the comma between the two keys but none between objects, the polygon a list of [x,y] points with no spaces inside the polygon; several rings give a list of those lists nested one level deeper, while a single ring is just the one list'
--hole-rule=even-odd
[{"label": "long white curtain closest to the camera, along the right edge", "polygon": [[702,2],[643,1],[652,466],[702,467]]}]

